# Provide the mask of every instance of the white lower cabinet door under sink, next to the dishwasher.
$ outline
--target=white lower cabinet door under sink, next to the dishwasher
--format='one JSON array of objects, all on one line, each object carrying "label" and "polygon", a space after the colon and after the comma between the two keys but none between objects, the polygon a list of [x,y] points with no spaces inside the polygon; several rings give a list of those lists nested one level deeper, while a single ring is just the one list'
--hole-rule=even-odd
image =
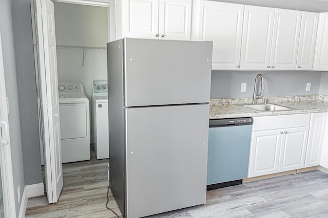
[{"label": "white lower cabinet door under sink, next to the dishwasher", "polygon": [[248,177],[278,172],[281,134],[279,130],[252,134]]}]

